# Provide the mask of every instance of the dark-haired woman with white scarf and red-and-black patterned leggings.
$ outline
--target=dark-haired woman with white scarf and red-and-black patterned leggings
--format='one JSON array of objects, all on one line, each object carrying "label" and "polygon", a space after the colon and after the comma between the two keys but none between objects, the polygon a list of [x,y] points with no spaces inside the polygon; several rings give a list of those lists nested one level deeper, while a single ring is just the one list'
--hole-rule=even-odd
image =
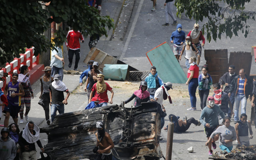
[{"label": "dark-haired woman with white scarf and red-and-black patterned leggings", "polygon": [[[27,114],[29,114],[30,111],[30,105],[31,105],[31,97],[34,98],[33,90],[31,88],[30,84],[30,75],[29,75],[29,68],[28,66],[22,66],[19,68],[20,74],[18,77],[18,82],[22,84],[22,87],[25,92],[25,96],[21,96],[21,109],[19,111],[19,115],[21,116],[21,121],[19,123],[23,122],[23,111],[24,107],[26,106],[26,112],[24,114],[26,121],[29,121],[29,117]],[[30,94],[31,93],[31,94]]]}]

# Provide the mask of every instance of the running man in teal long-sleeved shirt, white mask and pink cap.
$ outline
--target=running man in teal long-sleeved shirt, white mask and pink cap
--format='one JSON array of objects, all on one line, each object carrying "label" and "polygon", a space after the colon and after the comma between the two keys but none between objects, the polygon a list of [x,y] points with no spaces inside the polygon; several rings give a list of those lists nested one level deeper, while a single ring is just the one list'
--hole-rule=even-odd
[{"label": "running man in teal long-sleeved shirt, white mask and pink cap", "polygon": [[[225,115],[221,111],[220,107],[214,104],[214,97],[209,96],[208,105],[203,108],[200,119],[199,119],[201,124],[205,126],[204,130],[205,130],[207,140],[209,140],[211,133],[213,133],[219,125],[218,113],[219,115],[221,115],[222,119],[225,118]],[[213,150],[211,150],[211,146],[213,146],[213,149],[216,149],[215,141],[210,141],[208,143],[209,155],[213,155]]]}]

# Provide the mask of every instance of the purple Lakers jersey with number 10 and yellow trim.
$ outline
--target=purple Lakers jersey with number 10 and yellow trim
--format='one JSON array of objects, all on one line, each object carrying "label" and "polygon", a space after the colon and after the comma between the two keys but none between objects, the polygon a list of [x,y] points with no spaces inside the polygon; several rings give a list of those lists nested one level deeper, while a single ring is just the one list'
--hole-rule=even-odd
[{"label": "purple Lakers jersey with number 10 and yellow trim", "polygon": [[8,83],[8,89],[7,89],[7,100],[8,105],[11,106],[20,106],[21,105],[21,96],[15,96],[14,98],[11,97],[12,93],[20,93],[19,92],[19,82],[15,83],[14,85],[12,82]]}]

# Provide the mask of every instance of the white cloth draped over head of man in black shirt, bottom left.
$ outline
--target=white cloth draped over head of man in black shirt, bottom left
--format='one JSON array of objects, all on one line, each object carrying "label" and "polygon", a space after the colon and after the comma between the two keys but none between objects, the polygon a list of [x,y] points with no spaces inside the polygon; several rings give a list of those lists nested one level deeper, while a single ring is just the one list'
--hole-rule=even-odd
[{"label": "white cloth draped over head of man in black shirt, bottom left", "polygon": [[22,137],[29,143],[35,143],[36,141],[39,140],[39,127],[35,123],[34,123],[34,131],[35,131],[35,135],[30,133],[29,123],[27,123],[25,129],[23,129]]}]

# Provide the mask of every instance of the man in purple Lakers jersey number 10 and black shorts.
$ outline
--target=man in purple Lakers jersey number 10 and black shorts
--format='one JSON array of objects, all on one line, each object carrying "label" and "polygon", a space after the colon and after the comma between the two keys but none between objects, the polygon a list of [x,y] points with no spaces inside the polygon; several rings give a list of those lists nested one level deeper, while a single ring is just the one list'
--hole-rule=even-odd
[{"label": "man in purple Lakers jersey number 10 and black shorts", "polygon": [[18,113],[21,109],[21,96],[25,95],[22,84],[18,80],[19,75],[13,73],[12,81],[5,86],[4,94],[7,95],[8,106],[5,106],[3,113],[5,113],[4,126],[8,127],[10,116],[14,123],[18,124]]}]

